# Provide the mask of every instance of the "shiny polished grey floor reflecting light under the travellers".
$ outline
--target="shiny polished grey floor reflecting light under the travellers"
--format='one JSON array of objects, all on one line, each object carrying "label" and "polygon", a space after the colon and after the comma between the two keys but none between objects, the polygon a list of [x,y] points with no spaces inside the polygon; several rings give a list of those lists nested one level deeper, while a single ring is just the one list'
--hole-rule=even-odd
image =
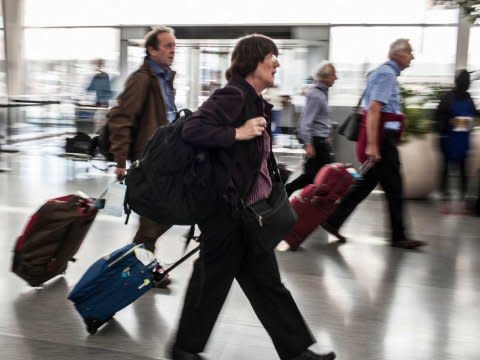
[{"label": "shiny polished grey floor reflecting light under the travellers", "polygon": [[[97,216],[76,263],[41,289],[10,273],[11,250],[29,215],[46,199],[82,190],[98,195],[110,181],[85,163],[56,156],[54,140],[0,154],[0,359],[166,359],[191,261],[173,274],[169,290],[153,290],[88,336],[66,299],[85,269],[129,242],[136,219]],[[292,161],[292,159],[287,159]],[[278,253],[284,282],[311,326],[319,351],[341,360],[480,359],[480,218],[440,216],[435,201],[408,202],[412,237],[421,251],[385,242],[384,203],[372,195],[344,227],[349,241],[317,231],[297,252]],[[185,227],[158,243],[165,263],[182,252]],[[277,359],[270,340],[235,285],[206,355],[215,360]]]}]

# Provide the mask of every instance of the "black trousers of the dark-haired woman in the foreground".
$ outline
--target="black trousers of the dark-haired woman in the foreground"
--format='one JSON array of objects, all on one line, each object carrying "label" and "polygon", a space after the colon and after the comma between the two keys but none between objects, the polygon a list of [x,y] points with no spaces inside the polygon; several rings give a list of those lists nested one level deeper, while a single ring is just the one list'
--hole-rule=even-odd
[{"label": "black trousers of the dark-haired woman in the foreground", "polygon": [[188,284],[175,346],[190,353],[204,350],[234,279],[281,359],[294,358],[312,345],[315,340],[281,282],[274,252],[254,255],[240,222],[226,208],[200,229],[200,256]]}]

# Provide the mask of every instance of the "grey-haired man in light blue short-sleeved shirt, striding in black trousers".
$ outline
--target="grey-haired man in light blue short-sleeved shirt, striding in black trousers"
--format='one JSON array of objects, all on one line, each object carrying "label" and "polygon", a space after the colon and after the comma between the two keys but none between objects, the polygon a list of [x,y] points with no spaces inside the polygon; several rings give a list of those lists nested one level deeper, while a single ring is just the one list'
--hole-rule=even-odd
[{"label": "grey-haired man in light blue short-sleeved shirt, striding in black trousers", "polygon": [[408,39],[398,39],[390,45],[390,60],[368,75],[362,101],[364,117],[357,143],[360,162],[374,165],[358,180],[342,199],[335,213],[322,226],[340,241],[345,237],[339,228],[356,206],[365,199],[378,183],[388,203],[391,225],[391,245],[414,249],[425,245],[423,241],[406,236],[403,221],[402,177],[397,142],[404,127],[400,108],[400,87],[397,77],[410,66],[414,56]]}]

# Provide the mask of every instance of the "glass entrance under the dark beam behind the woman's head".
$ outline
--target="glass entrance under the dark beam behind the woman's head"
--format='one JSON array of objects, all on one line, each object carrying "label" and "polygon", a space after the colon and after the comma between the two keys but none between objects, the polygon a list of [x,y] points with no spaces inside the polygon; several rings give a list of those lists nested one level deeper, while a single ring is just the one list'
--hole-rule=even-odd
[{"label": "glass entrance under the dark beam behind the woman's head", "polygon": [[[178,108],[196,108],[217,88],[226,84],[225,70],[230,63],[231,51],[236,40],[177,40],[175,61],[172,68],[175,77]],[[142,63],[145,49],[139,40],[132,40],[128,48],[128,72],[135,71]],[[272,97],[291,95],[301,105],[300,96],[305,79],[310,74],[310,49],[324,49],[324,44],[303,40],[276,40],[279,47],[280,68],[277,70]],[[326,49],[323,55],[326,56]],[[318,51],[312,51],[318,55]],[[321,53],[322,54],[322,53]],[[322,55],[319,56],[322,56]],[[315,58],[315,63],[324,57]],[[275,101],[274,99],[271,99]]]}]

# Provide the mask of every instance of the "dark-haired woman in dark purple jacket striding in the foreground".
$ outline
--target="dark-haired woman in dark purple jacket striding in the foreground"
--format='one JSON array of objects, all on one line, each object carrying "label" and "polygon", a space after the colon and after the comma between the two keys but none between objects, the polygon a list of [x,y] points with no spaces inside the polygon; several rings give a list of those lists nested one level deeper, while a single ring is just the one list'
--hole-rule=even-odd
[{"label": "dark-haired woman in dark purple jacket striding in the foreground", "polygon": [[308,349],[315,340],[285,288],[273,250],[254,251],[239,216],[272,191],[272,105],[262,92],[271,87],[280,63],[268,37],[241,38],[226,72],[228,84],[216,90],[183,128],[185,141],[209,148],[214,159],[212,186],[216,211],[201,224],[200,256],[185,295],[173,360],[200,360],[199,355],[236,279],[283,360],[333,360],[334,353]]}]

